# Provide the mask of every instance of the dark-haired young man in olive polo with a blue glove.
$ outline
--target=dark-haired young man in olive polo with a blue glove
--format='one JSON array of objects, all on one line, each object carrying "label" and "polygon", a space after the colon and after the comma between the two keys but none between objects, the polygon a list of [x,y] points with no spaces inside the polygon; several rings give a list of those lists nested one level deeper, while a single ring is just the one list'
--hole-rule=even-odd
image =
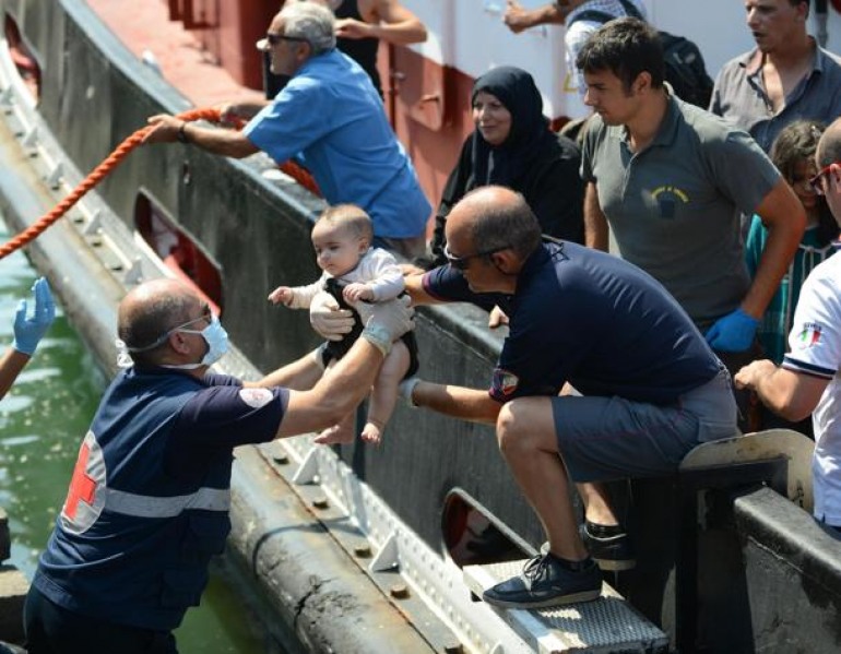
[{"label": "dark-haired young man in olive polo with a blue glove", "polygon": [[[797,197],[744,131],[676,98],[658,33],[636,19],[601,27],[576,62],[595,115],[582,148],[587,245],[623,258],[677,299],[733,370],[756,357],[756,328],[805,227]],[[754,280],[739,213],[769,229]]]}]

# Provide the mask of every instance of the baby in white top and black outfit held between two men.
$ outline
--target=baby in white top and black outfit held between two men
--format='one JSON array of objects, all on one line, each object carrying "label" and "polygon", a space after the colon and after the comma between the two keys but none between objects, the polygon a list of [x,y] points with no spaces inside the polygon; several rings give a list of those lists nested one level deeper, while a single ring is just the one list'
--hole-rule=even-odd
[{"label": "baby in white top and black outfit held between two men", "polygon": [[[324,271],[321,277],[307,286],[279,286],[269,299],[292,309],[309,308],[317,293],[327,290],[340,307],[354,310],[357,316],[354,330],[342,341],[328,341],[322,347],[325,374],[341,359],[362,333],[370,317],[367,302],[392,300],[403,293],[403,274],[396,260],[386,250],[371,248],[374,227],[362,209],[340,204],[328,209],[312,227],[316,262]],[[394,343],[382,364],[371,389],[368,416],[362,438],[379,443],[386,423],[394,411],[398,384],[417,371],[417,347],[414,334],[405,334]],[[354,416],[348,415],[337,425],[322,431],[317,443],[352,442]]]}]

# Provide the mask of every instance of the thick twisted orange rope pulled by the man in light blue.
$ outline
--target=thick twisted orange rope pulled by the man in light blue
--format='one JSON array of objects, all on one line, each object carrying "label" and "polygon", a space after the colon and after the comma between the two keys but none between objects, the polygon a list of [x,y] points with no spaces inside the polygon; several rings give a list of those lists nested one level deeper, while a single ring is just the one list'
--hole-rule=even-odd
[{"label": "thick twisted orange rope pulled by the man in light blue", "polygon": [[[178,114],[177,118],[185,121],[193,120],[208,120],[210,122],[220,122],[220,110],[214,108],[191,109]],[[84,197],[87,191],[93,189],[99,183],[106,175],[108,175],[119,163],[128,156],[128,154],[143,142],[146,134],[154,129],[152,126],[139,129],[122,143],[120,143],[107,158],[105,158],[91,174],[85,177],[82,182],[74,188],[70,194],[59,202],[51,211],[44,214],[35,223],[29,225],[26,229],[19,235],[9,239],[2,247],[0,247],[0,259],[8,257],[15,250],[19,250],[23,246],[32,242],[38,236],[42,235],[48,227],[50,227],[56,221],[63,216],[72,206]],[[286,162],[281,164],[281,170],[286,173],[289,177],[295,179],[300,186],[308,191],[320,194],[318,185],[312,176],[301,166],[298,166],[294,162]]]}]

